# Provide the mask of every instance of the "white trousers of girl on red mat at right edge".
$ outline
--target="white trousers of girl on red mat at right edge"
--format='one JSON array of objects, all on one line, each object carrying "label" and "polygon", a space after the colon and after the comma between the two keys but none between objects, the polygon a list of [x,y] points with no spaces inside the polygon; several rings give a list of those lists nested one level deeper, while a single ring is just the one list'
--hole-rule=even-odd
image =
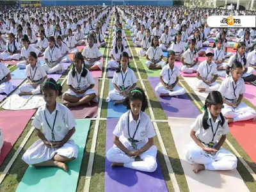
[{"label": "white trousers of girl on red mat at right edge", "polygon": [[234,122],[249,120],[255,118],[256,111],[253,108],[247,106],[244,102],[241,102],[237,108],[223,104],[222,114],[226,118],[234,118]]}]

